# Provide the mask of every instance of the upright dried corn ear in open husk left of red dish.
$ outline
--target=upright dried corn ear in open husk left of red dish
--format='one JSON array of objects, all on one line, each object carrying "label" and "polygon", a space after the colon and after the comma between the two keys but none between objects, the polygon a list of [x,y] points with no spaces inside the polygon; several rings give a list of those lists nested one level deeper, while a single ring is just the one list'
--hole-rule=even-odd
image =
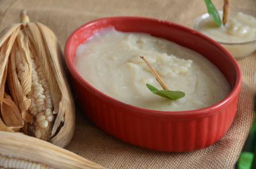
[{"label": "upright dried corn ear in open husk left of red dish", "polygon": [[75,117],[61,49],[48,27],[21,17],[0,33],[0,130],[64,147]]}]

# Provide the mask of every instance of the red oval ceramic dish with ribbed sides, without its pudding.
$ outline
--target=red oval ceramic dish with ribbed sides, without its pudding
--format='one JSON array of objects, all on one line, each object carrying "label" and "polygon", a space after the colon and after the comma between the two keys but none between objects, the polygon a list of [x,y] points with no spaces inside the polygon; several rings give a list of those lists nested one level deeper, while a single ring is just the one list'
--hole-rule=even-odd
[{"label": "red oval ceramic dish with ribbed sides, without its pudding", "polygon": [[[162,37],[201,53],[226,76],[231,93],[213,106],[176,112],[130,106],[101,93],[76,72],[73,58],[79,44],[86,42],[101,28],[110,26],[118,31]],[[242,83],[236,60],[214,40],[181,25],[141,17],[111,17],[91,21],[68,38],[65,61],[83,113],[105,132],[133,145],[170,152],[205,148],[227,132],[235,117]]]}]

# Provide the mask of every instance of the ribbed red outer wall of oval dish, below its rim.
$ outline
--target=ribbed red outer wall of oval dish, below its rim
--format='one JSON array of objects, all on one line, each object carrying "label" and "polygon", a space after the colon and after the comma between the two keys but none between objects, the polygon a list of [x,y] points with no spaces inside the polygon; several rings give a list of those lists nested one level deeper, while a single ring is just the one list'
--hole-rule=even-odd
[{"label": "ribbed red outer wall of oval dish, below its rim", "polygon": [[171,115],[146,116],[127,109],[82,84],[76,84],[74,91],[83,113],[105,132],[132,145],[167,152],[188,152],[217,142],[232,124],[238,104],[237,95],[210,116],[173,119]]}]

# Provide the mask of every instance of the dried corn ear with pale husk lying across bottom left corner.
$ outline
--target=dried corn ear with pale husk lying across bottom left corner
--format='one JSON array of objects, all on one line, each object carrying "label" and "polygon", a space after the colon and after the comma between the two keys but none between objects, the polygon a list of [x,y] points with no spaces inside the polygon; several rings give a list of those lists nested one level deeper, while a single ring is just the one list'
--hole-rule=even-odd
[{"label": "dried corn ear with pale husk lying across bottom left corner", "polygon": [[73,152],[23,133],[0,132],[0,168],[103,168]]}]

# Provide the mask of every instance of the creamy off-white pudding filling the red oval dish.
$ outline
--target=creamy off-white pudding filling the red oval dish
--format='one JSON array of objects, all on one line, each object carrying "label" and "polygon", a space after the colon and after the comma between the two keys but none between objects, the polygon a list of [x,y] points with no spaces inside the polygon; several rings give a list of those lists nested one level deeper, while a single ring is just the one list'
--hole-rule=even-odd
[{"label": "creamy off-white pudding filling the red oval dish", "polygon": [[[176,101],[154,95],[158,89],[145,56],[171,90],[186,95]],[[74,66],[93,87],[117,100],[152,110],[182,111],[211,106],[230,92],[223,74],[199,53],[165,39],[142,33],[101,30],[77,48]]]}]

